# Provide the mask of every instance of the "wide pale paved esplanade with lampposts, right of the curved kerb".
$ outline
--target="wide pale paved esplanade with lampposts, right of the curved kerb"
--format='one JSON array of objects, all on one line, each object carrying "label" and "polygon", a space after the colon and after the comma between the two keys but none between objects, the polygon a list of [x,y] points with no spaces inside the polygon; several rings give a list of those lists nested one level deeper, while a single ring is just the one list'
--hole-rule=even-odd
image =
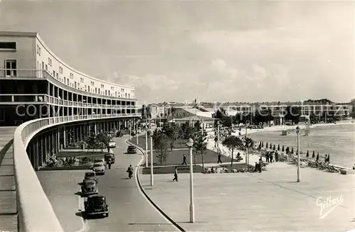
[{"label": "wide pale paved esplanade with lampposts, right of the curved kerb", "polygon": [[[194,174],[195,223],[189,221],[188,174],[139,179],[149,197],[186,231],[345,231],[354,228],[354,175],[283,162],[262,173]],[[327,197],[340,199],[321,211]],[[320,198],[320,199],[319,199]],[[324,217],[321,219],[321,217]]]}]

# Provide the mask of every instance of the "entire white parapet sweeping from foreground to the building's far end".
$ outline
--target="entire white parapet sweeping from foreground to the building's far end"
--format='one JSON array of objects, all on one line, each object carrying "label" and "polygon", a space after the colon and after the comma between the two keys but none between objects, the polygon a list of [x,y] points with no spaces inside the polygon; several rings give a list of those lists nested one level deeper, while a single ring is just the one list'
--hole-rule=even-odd
[{"label": "entire white parapet sweeping from foreground to the building's far end", "polygon": [[48,197],[43,192],[35,170],[28,159],[26,147],[31,138],[45,128],[61,123],[92,120],[100,118],[115,118],[125,116],[140,116],[140,114],[104,114],[62,116],[40,118],[22,123],[13,136],[13,162],[15,165],[16,189],[21,231],[55,231],[63,232]]}]

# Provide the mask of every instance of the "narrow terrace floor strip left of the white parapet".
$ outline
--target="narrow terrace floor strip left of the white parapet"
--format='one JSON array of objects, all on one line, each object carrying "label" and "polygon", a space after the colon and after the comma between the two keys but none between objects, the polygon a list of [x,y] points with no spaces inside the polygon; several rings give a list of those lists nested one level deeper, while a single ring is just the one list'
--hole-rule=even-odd
[{"label": "narrow terrace floor strip left of the white parapet", "polygon": [[15,130],[16,127],[0,127],[0,231],[18,231],[12,145]]}]

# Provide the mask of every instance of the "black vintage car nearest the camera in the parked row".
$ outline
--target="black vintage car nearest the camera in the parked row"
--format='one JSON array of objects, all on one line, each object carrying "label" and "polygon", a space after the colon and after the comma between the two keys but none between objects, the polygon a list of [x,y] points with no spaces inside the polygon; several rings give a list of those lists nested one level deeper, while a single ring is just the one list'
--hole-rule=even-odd
[{"label": "black vintage car nearest the camera in the parked row", "polygon": [[87,201],[84,201],[84,208],[87,218],[92,216],[109,216],[109,205],[106,202],[106,197],[102,194],[87,197]]}]

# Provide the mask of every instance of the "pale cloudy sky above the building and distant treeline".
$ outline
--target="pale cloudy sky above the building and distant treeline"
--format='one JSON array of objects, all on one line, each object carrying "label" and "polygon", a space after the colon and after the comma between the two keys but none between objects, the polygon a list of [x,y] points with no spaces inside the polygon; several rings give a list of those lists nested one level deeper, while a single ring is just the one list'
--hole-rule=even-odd
[{"label": "pale cloudy sky above the building and distant treeline", "polygon": [[38,32],[140,103],[355,96],[354,1],[2,0],[0,31]]}]

